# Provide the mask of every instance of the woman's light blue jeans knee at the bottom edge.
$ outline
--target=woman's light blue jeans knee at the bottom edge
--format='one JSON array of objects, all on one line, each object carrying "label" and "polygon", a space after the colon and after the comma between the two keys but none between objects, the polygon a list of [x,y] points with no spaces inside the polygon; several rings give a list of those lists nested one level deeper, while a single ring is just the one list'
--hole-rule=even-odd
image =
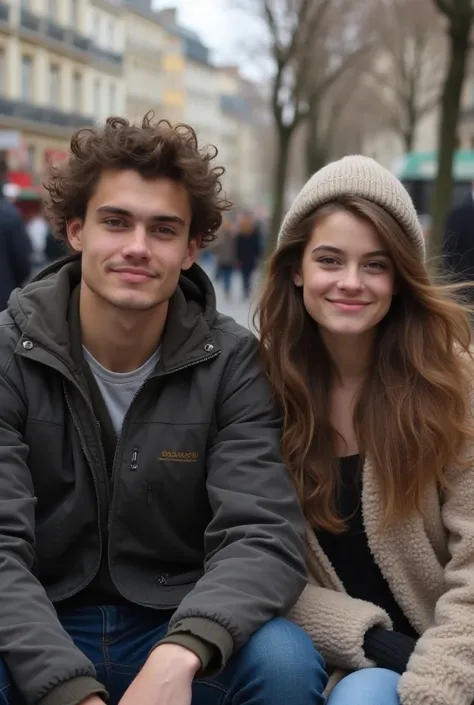
[{"label": "woman's light blue jeans knee at the bottom edge", "polygon": [[327,705],[400,705],[400,676],[386,668],[364,668],[339,681]]}]

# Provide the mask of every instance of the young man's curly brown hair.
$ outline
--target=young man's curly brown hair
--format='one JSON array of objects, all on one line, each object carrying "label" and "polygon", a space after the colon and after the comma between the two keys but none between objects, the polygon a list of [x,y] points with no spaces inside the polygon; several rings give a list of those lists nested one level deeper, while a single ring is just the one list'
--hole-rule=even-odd
[{"label": "young man's curly brown hair", "polygon": [[100,175],[133,169],[144,178],[165,177],[183,184],[191,201],[190,237],[200,235],[204,247],[215,240],[222,214],[232,206],[223,194],[225,169],[211,164],[216,156],[216,147],[199,148],[189,125],[154,121],[152,112],[141,125],[109,117],[102,128],[78,130],[69,159],[50,167],[44,183],[46,214],[56,237],[67,241],[67,222],[85,218]]}]

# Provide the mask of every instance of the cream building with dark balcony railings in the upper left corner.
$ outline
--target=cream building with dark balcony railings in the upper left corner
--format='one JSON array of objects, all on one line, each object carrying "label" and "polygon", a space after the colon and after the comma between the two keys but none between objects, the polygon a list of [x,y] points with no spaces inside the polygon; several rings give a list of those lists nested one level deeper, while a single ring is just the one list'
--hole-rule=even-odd
[{"label": "cream building with dark balcony railings in the upper left corner", "polygon": [[72,132],[124,112],[121,0],[0,1],[0,150],[40,174]]}]

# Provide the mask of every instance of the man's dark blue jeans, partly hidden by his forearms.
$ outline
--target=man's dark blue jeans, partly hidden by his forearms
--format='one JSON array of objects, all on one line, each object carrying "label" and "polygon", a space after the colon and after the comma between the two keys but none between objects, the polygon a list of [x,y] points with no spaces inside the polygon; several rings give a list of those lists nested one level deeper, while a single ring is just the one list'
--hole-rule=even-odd
[{"label": "man's dark blue jeans, partly hidden by his forearms", "polygon": [[[132,605],[59,611],[64,628],[109,691],[109,705],[117,705],[166,634],[170,616]],[[221,673],[194,682],[192,705],[323,705],[326,682],[323,661],[310,638],[295,624],[275,618]],[[1,661],[0,705],[24,705]]]}]

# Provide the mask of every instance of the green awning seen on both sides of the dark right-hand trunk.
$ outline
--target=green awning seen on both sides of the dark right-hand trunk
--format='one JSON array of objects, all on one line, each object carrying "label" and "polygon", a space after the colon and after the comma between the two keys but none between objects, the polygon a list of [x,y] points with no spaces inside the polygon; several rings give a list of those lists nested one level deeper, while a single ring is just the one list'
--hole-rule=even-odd
[{"label": "green awning seen on both sides of the dark right-hand trunk", "polygon": [[[402,181],[432,181],[437,172],[437,152],[410,152],[396,160],[392,171]],[[456,181],[474,180],[474,150],[458,150],[454,156]]]}]

